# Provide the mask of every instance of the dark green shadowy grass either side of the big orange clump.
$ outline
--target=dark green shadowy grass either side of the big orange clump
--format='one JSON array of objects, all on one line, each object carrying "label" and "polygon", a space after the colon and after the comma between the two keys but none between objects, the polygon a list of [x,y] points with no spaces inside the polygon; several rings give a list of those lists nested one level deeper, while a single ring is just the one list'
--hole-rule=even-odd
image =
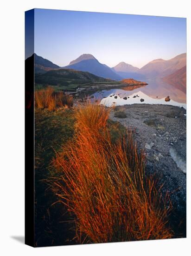
[{"label": "dark green shadowy grass either side of the big orange clump", "polygon": [[[52,159],[63,146],[70,143],[75,132],[75,110],[59,108],[35,109],[35,241],[38,246],[76,244],[71,216],[63,203],[52,193],[47,179],[57,175],[51,168]],[[118,122],[108,120],[112,141],[119,139],[125,128]],[[57,202],[57,203],[55,203]]]}]

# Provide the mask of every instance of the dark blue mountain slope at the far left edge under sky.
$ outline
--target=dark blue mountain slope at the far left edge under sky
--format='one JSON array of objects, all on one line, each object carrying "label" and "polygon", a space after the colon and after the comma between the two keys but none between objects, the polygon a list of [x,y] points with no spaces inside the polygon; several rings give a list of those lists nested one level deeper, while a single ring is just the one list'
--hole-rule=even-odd
[{"label": "dark blue mountain slope at the far left edge under sky", "polygon": [[35,73],[45,73],[48,70],[51,70],[54,68],[60,68],[58,65],[52,63],[47,59],[44,59],[41,56],[38,56],[37,54],[33,54],[33,55],[34,55]]}]

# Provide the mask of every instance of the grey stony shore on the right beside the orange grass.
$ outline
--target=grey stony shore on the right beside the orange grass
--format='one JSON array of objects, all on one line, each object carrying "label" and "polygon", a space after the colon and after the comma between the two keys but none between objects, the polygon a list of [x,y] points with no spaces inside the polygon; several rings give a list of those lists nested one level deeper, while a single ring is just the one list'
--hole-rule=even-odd
[{"label": "grey stony shore on the right beside the orange grass", "polygon": [[[117,115],[119,111],[126,117]],[[164,195],[171,194],[172,222],[177,232],[185,236],[186,110],[168,105],[134,104],[115,107],[110,118],[134,130],[138,147],[146,151],[146,172],[155,174],[159,183],[164,184]]]}]

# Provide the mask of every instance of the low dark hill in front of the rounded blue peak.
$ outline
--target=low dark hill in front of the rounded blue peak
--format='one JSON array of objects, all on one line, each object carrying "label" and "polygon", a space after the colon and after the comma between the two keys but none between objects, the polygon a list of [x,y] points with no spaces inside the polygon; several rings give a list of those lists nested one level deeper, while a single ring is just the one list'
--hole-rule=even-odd
[{"label": "low dark hill in front of the rounded blue peak", "polygon": [[108,82],[111,80],[90,74],[89,72],[77,71],[74,69],[52,69],[45,74],[35,75],[35,83],[42,85],[69,86],[82,85],[90,82]]}]

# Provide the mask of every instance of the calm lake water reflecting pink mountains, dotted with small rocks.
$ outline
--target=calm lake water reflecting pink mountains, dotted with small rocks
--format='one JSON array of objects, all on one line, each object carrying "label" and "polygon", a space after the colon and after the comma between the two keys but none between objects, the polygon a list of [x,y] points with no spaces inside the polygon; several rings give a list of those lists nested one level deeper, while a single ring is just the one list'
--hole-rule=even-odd
[{"label": "calm lake water reflecting pink mountains, dotted with small rocks", "polygon": [[[108,107],[127,104],[164,104],[183,107],[186,109],[186,92],[178,85],[170,85],[161,80],[144,80],[148,85],[129,90],[129,87],[101,90],[94,95],[95,99],[101,100],[101,104]],[[115,95],[114,95],[115,94]],[[112,95],[112,96],[111,96]],[[138,97],[138,96],[139,97]],[[117,96],[117,99],[115,98]],[[136,96],[136,97],[134,97]],[[170,96],[170,101],[165,98]],[[123,98],[127,97],[127,100]],[[128,98],[129,97],[129,98]],[[144,101],[140,101],[144,99]]]}]

